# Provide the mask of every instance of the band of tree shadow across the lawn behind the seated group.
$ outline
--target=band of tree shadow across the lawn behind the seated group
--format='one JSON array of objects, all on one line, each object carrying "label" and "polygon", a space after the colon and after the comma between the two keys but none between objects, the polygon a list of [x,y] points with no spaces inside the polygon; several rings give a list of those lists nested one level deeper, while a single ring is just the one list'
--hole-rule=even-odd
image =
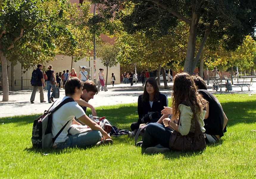
[{"label": "band of tree shadow across the lawn behind the seated group", "polygon": [[[255,123],[256,115],[256,101],[246,101],[246,102],[227,102],[222,103],[223,110],[227,115],[229,121],[227,126],[232,126],[238,123]],[[138,113],[137,104],[122,104],[113,109],[110,106],[96,108],[98,116],[105,116],[112,125],[117,128],[130,129],[130,125],[133,122],[137,122]],[[42,111],[43,112],[43,111]],[[89,111],[87,112],[89,114]],[[28,116],[15,116],[15,117],[3,117],[0,118],[0,123],[17,123],[17,125],[26,125],[33,123],[40,115],[28,115]],[[32,128],[32,127],[31,127]]]}]

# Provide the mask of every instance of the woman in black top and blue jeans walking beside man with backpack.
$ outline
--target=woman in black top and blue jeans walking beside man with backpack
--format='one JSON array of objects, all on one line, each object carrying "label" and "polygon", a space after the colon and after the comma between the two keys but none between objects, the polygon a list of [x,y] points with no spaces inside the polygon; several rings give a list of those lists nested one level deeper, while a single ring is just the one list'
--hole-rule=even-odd
[{"label": "woman in black top and blue jeans walking beside man with backpack", "polygon": [[[46,75],[47,75],[47,97],[48,97],[48,103],[54,102],[53,98],[54,98],[54,88],[56,88],[57,86],[57,81],[54,75],[54,71],[52,70],[52,65],[48,65],[48,71],[46,71]],[[52,84],[53,82],[50,81],[51,80],[51,75],[54,78],[54,84]],[[51,93],[51,87],[53,92]],[[51,97],[50,97],[50,93],[51,93]]]}]

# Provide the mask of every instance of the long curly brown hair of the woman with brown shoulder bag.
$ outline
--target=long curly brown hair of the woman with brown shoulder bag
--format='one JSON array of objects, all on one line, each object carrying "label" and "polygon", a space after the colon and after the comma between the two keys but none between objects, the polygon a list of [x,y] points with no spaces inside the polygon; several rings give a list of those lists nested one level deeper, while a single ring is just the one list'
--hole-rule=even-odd
[{"label": "long curly brown hair of the woman with brown shoulder bag", "polygon": [[207,101],[197,93],[197,87],[188,73],[179,73],[174,77],[172,100],[174,120],[179,117],[179,105],[184,101],[191,107],[194,119],[207,105]]}]

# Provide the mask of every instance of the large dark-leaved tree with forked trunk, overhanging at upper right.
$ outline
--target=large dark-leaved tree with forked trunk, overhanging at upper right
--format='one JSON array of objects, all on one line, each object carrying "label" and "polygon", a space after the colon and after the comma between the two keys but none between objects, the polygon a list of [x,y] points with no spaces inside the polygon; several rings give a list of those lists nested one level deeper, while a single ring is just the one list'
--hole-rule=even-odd
[{"label": "large dark-leaved tree with forked trunk, overhanging at upper right", "polygon": [[[256,1],[238,0],[93,0],[104,4],[101,18],[119,19],[124,30],[134,34],[143,30],[159,37],[172,33],[178,20],[189,26],[184,71],[193,73],[203,48],[223,39],[224,47],[235,50],[246,35],[255,37]],[[120,5],[121,2],[121,5]],[[115,12],[115,13],[114,13]],[[196,43],[200,45],[196,47]]]}]

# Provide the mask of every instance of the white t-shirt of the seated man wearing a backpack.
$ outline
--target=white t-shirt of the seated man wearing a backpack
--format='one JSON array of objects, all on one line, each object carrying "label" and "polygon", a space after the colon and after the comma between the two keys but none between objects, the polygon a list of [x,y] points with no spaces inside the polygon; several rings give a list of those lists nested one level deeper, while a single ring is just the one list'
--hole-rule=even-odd
[{"label": "white t-shirt of the seated man wearing a backpack", "polygon": [[[50,111],[67,98],[69,97],[64,96],[63,98],[57,99],[57,101],[51,107]],[[52,115],[52,137],[56,136],[60,129],[69,121],[55,142],[65,142],[68,135],[68,129],[70,128],[74,117],[78,119],[83,115],[85,115],[84,110],[75,101],[68,102],[61,106],[57,111],[55,111]]]}]

